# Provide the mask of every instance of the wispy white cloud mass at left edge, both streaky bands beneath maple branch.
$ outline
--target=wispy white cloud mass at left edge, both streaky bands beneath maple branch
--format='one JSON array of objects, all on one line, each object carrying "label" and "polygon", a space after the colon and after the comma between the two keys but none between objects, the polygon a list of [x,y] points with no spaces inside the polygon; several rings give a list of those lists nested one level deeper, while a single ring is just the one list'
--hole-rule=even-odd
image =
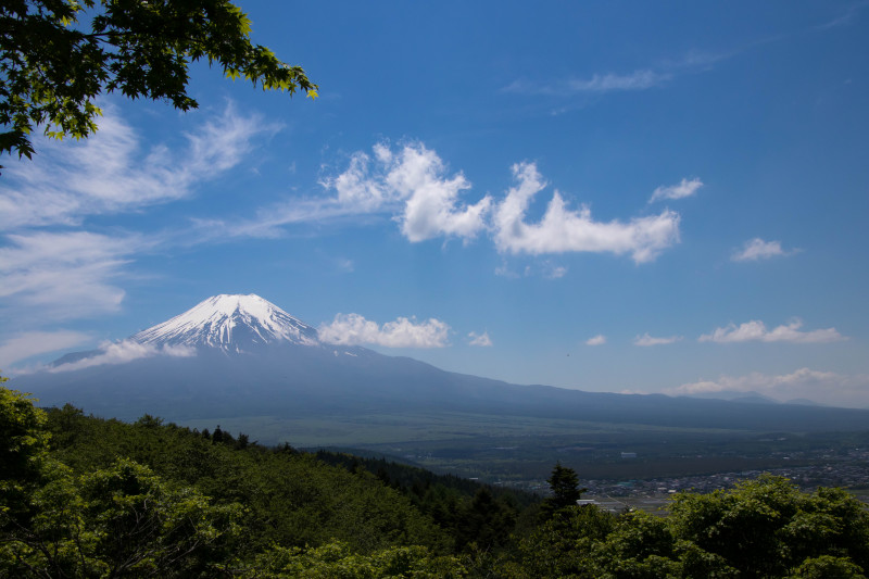
[{"label": "wispy white cloud mass at left edge, both streaky bands beneath maple branch", "polygon": [[45,142],[32,162],[3,172],[0,298],[16,323],[35,327],[118,311],[130,263],[176,235],[93,232],[83,224],[190,197],[275,130],[229,104],[184,135],[179,147],[150,147],[106,110],[91,138]]}]

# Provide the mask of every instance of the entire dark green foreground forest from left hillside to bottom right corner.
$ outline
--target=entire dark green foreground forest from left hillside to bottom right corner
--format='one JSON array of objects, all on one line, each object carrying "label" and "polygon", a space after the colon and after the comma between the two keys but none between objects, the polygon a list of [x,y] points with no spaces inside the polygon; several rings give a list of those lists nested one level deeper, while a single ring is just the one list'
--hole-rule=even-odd
[{"label": "entire dark green foreground forest from left hillside to bottom right corner", "polygon": [[869,513],[765,477],[668,516],[340,453],[41,411],[0,388],[0,577],[860,578]]}]

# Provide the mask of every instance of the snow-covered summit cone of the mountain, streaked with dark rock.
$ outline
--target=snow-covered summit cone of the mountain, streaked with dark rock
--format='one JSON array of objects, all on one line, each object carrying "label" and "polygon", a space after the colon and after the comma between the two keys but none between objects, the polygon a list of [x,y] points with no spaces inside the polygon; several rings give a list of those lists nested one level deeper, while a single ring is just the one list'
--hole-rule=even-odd
[{"label": "snow-covered summit cone of the mountain, streaked with dark rock", "polygon": [[316,329],[253,293],[209,298],[131,339],[155,345],[207,345],[236,352],[275,342],[319,343]]}]

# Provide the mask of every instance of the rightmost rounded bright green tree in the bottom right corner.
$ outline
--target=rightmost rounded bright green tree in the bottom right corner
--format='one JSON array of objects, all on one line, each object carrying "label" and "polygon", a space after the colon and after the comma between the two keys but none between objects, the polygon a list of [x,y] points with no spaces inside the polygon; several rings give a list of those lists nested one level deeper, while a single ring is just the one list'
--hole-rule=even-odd
[{"label": "rightmost rounded bright green tree in the bottom right corner", "polygon": [[814,577],[845,563],[869,569],[869,512],[839,489],[807,494],[763,476],[730,491],[680,493],[668,523],[685,554],[717,559],[739,577]]}]

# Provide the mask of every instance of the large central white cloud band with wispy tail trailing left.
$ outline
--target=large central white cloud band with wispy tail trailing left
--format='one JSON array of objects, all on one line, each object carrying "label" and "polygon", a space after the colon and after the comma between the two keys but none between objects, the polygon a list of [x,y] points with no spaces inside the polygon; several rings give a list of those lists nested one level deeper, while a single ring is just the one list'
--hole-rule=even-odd
[{"label": "large central white cloud band with wispy tail trailing left", "polygon": [[[628,223],[595,222],[588,206],[579,211],[567,209],[558,191],[540,223],[526,223],[531,199],[546,182],[533,163],[517,164],[512,169],[518,184],[504,199],[495,203],[487,194],[467,204],[461,197],[470,189],[470,182],[462,173],[449,175],[434,151],[419,142],[396,151],[380,143],[371,155],[354,153],[343,173],[322,180],[326,190],[335,192],[333,197],[294,199],[263,207],[249,222],[210,221],[197,226],[212,237],[276,237],[286,225],[387,214],[400,224],[411,242],[436,237],[467,241],[489,231],[501,252],[630,253],[637,263],[655,260],[679,241],[680,217],[676,212],[664,211]],[[566,272],[565,267],[551,267],[543,275],[557,278]],[[508,275],[508,269],[500,267],[496,273]]]}]

